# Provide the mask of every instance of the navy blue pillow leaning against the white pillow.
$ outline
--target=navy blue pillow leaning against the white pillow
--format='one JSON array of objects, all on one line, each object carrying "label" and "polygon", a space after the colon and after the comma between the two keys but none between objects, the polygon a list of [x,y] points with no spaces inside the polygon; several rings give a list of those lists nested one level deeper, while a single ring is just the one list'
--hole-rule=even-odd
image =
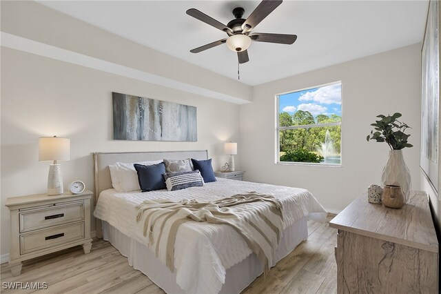
[{"label": "navy blue pillow leaning against the white pillow", "polygon": [[153,164],[152,166],[144,166],[142,164],[134,164],[136,173],[138,173],[139,186],[143,192],[153,190],[166,189],[165,179],[165,164]]}]

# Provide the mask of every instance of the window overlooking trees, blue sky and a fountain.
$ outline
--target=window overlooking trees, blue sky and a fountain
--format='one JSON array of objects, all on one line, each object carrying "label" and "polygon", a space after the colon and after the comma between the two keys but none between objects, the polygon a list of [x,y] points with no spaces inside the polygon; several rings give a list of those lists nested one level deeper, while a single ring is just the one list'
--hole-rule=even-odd
[{"label": "window overlooking trees, blue sky and a fountain", "polygon": [[277,162],[341,164],[341,82],[277,95]]}]

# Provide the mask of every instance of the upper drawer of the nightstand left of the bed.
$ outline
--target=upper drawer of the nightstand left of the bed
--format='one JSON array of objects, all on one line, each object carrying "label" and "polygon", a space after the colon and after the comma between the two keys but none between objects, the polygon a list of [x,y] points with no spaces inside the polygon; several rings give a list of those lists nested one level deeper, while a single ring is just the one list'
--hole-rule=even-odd
[{"label": "upper drawer of the nightstand left of the bed", "polygon": [[20,211],[20,233],[84,219],[84,202],[68,202]]}]

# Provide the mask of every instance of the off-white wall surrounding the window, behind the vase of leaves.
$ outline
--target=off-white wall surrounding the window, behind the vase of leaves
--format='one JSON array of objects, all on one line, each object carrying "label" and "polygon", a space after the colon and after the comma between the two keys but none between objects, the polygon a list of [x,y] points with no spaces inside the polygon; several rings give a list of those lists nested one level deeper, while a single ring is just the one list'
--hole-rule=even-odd
[{"label": "off-white wall surrounding the window, behind the vase of leaves", "polygon": [[[275,164],[275,95],[334,81],[342,81],[342,167]],[[420,44],[254,87],[253,103],[240,106],[239,154],[245,179],[307,188],[327,210],[338,212],[367,186],[380,183],[389,147],[368,143],[366,136],[376,115],[393,112],[401,112],[402,121],[412,127],[409,141],[415,147],[403,153],[413,188],[418,189]]]}]

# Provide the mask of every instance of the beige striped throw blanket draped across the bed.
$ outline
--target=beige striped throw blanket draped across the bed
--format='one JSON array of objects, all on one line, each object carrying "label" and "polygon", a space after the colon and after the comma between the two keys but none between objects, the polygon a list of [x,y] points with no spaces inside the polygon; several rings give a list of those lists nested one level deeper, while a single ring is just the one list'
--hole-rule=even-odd
[{"label": "beige striped throw blanket draped across the bed", "polygon": [[282,205],[271,195],[251,192],[208,203],[145,200],[136,209],[139,210],[136,221],[144,219],[144,236],[149,234],[148,246],[172,272],[176,233],[185,222],[231,226],[263,262],[265,271],[273,264],[274,252],[282,237]]}]

